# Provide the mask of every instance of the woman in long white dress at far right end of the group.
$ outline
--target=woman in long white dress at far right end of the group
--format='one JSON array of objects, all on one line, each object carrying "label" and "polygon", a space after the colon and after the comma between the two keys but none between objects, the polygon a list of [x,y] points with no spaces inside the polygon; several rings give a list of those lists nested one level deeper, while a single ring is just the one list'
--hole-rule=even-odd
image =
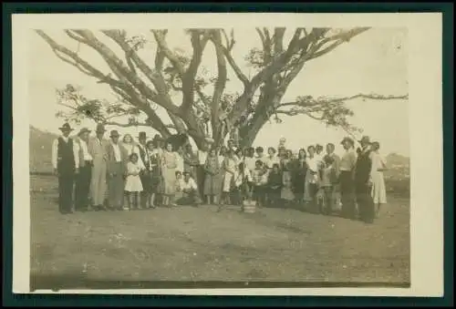
[{"label": "woman in long white dress at far right end of the group", "polygon": [[372,161],[372,168],[370,170],[370,177],[372,180],[372,199],[377,206],[376,212],[380,211],[380,205],[387,203],[387,190],[385,187],[385,179],[383,171],[387,169],[387,162],[378,152],[380,144],[378,141],[372,143],[372,151],[370,152],[370,160]]}]

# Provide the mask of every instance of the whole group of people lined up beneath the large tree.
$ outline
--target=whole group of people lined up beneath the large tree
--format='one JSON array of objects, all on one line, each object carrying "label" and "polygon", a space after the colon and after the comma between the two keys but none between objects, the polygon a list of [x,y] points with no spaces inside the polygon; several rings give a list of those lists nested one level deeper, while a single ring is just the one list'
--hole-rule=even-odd
[{"label": "whole group of people lined up beneath the large tree", "polygon": [[[190,143],[178,149],[155,135],[140,132],[138,142],[130,134],[119,140],[117,130],[98,125],[96,137],[83,128],[74,139],[64,124],[62,136],[53,144],[53,165],[59,180],[59,210],[62,213],[93,210],[133,210],[176,204],[243,205],[258,207],[295,203],[349,219],[374,221],[379,205],[386,203],[379,143],[368,137],[345,138],[344,154],[335,153],[329,143],[299,149],[278,147],[246,148],[235,145],[212,147],[207,140],[196,151]],[[74,185],[76,182],[76,185]],[[74,193],[73,193],[74,188]],[[75,197],[73,201],[73,196]],[[358,205],[358,211],[357,211]],[[377,210],[376,210],[377,205]]]}]

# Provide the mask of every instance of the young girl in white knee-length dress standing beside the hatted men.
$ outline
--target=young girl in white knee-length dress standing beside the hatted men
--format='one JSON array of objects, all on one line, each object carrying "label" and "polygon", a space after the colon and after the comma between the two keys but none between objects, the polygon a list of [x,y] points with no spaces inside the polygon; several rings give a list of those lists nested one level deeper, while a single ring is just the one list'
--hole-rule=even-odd
[{"label": "young girl in white knee-length dress standing beside the hatted men", "polygon": [[142,183],[140,180],[140,164],[138,154],[130,154],[130,161],[127,163],[127,180],[125,181],[125,191],[129,197],[129,209],[139,208],[140,192],[142,192]]}]

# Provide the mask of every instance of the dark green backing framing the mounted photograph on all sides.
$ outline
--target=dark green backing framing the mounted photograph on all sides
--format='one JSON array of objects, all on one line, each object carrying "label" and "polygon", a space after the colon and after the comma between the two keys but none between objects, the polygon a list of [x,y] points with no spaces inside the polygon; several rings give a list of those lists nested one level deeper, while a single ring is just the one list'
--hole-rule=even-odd
[{"label": "dark green backing framing the mounted photograph on all sides", "polygon": [[[445,297],[285,297],[285,296],[131,296],[131,295],[43,295],[12,294],[12,57],[11,15],[17,13],[443,13],[443,135],[444,135],[444,233],[445,233]],[[308,306],[308,305],[451,305],[453,304],[453,6],[445,3],[78,3],[78,4],[3,4],[3,227],[4,279],[3,304],[44,306]],[[424,73],[424,72],[423,72]],[[410,102],[413,104],[413,102]],[[440,149],[436,149],[440,151]],[[432,207],[434,205],[430,205]],[[422,222],[426,224],[426,222]]]}]

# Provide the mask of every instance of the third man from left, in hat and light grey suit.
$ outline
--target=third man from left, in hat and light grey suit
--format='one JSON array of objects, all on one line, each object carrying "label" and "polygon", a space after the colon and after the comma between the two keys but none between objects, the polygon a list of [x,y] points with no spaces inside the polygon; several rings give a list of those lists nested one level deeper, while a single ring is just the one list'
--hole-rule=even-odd
[{"label": "third man from left, in hat and light grey suit", "polygon": [[92,156],[93,166],[90,179],[90,200],[95,210],[105,209],[104,201],[107,192],[107,148],[109,141],[104,139],[106,129],[102,124],[97,125],[96,137],[88,141],[88,153]]}]

